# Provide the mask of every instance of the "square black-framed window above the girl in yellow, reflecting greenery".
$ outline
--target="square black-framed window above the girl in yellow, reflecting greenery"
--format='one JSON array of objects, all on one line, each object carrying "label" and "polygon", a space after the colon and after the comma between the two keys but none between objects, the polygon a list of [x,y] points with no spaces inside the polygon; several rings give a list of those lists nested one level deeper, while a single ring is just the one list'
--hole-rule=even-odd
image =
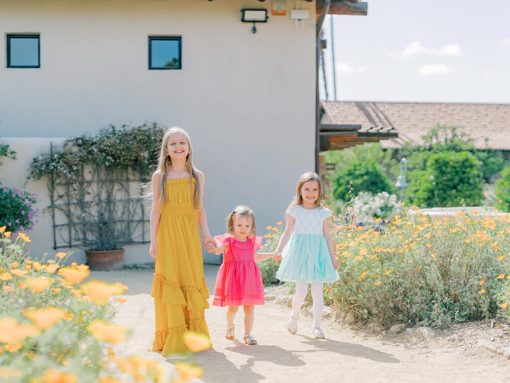
[{"label": "square black-framed window above the girl in yellow, reflecting greenery", "polygon": [[181,68],[181,37],[149,37],[149,69]]}]

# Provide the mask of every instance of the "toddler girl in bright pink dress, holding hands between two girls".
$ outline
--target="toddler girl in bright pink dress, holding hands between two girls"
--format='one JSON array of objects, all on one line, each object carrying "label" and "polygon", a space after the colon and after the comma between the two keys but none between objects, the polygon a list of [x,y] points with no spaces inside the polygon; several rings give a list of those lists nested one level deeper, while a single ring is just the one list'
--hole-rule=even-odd
[{"label": "toddler girl in bright pink dress, holding hands between two girls", "polygon": [[227,218],[227,233],[214,237],[216,248],[210,250],[223,253],[223,263],[218,270],[214,289],[213,305],[225,307],[226,339],[234,339],[234,318],[243,306],[244,343],[253,345],[257,341],[250,334],[254,320],[254,305],[264,304],[264,285],[256,261],[280,258],[273,253],[260,253],[262,237],[257,237],[255,216],[247,206],[237,206]]}]

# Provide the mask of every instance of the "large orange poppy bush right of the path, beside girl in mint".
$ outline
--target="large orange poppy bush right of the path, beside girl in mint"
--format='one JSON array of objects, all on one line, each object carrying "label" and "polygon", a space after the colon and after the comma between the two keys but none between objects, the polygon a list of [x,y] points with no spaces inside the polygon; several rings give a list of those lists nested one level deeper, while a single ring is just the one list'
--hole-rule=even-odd
[{"label": "large orange poppy bush right of the path, beside girl in mint", "polygon": [[359,318],[445,327],[506,313],[510,214],[432,220],[413,207],[384,233],[337,230],[340,280],[326,299]]}]

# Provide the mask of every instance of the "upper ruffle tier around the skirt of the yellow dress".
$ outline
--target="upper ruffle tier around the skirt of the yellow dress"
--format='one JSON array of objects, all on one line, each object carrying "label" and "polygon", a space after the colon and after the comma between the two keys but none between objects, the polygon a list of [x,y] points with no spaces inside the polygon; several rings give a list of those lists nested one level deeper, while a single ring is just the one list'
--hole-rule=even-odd
[{"label": "upper ruffle tier around the skirt of the yellow dress", "polygon": [[175,282],[166,280],[162,275],[154,274],[152,279],[153,298],[160,299],[163,303],[175,306],[188,307],[188,311],[200,311],[209,309],[209,291],[206,280],[202,278],[202,287],[180,286]]}]

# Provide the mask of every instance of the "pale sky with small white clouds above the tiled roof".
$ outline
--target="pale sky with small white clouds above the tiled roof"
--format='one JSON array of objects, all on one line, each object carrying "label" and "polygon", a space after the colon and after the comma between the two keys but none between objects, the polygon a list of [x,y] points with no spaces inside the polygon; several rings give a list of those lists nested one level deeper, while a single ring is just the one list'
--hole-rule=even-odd
[{"label": "pale sky with small white clouds above the tiled roof", "polygon": [[333,15],[337,100],[510,103],[510,1],[367,2],[367,16]]}]

